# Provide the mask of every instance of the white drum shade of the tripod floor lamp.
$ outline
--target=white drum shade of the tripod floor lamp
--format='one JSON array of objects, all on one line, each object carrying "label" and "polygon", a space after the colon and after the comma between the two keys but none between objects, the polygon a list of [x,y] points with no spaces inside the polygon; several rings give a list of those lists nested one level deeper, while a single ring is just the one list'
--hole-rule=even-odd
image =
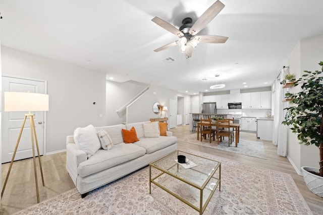
[{"label": "white drum shade of the tripod floor lamp", "polygon": [[48,95],[5,92],[5,111],[48,111]]}]

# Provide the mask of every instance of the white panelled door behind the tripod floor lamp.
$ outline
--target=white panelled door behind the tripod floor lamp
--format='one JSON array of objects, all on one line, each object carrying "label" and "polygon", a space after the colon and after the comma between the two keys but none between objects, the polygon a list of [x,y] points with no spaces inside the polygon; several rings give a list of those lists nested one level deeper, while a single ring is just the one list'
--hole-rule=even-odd
[{"label": "white panelled door behind the tripod floor lamp", "polygon": [[[19,79],[12,77],[2,77],[2,91],[4,92],[30,92],[45,93],[45,83],[41,81],[33,81],[27,79]],[[4,101],[4,99],[2,100]],[[4,106],[4,102],[2,104]],[[19,136],[25,113],[28,111],[5,112],[2,109],[2,163],[10,162],[15,150],[16,142]],[[37,140],[39,145],[39,153],[43,155],[44,147],[44,111],[32,112],[35,114],[34,121],[36,127]],[[37,151],[35,149],[35,155]],[[32,157],[31,134],[29,118],[25,123],[24,130],[21,135],[19,147],[15,156],[16,160]]]}]

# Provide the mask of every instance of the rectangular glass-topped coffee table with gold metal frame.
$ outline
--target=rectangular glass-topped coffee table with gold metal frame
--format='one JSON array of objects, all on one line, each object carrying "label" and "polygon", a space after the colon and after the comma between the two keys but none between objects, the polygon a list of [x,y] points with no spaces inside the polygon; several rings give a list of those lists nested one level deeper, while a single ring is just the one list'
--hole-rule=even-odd
[{"label": "rectangular glass-topped coffee table with gold metal frame", "polygon": [[[186,157],[185,164],[177,162],[178,155]],[[202,214],[218,186],[221,191],[221,162],[175,151],[149,164],[149,194],[151,183]]]}]

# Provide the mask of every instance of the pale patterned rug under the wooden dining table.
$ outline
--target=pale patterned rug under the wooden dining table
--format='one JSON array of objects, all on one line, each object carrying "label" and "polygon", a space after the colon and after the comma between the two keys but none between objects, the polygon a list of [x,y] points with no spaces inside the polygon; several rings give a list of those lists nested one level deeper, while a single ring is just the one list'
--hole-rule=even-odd
[{"label": "pale patterned rug under the wooden dining table", "polygon": [[179,141],[189,142],[190,144],[196,144],[203,147],[209,147],[217,150],[224,150],[228,152],[238,153],[242,155],[247,155],[256,158],[266,159],[262,142],[255,142],[241,139],[239,140],[238,147],[236,147],[235,141],[232,142],[232,145],[228,144],[228,139],[222,140],[220,144],[217,144],[217,141],[209,142],[209,139],[196,139],[196,133],[185,136],[183,139],[178,139]]}]

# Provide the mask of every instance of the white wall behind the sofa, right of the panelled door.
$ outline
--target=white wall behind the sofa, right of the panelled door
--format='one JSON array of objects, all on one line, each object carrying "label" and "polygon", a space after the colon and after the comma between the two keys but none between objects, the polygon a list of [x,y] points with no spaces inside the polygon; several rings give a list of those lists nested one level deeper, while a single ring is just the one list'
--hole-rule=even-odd
[{"label": "white wall behind the sofa, right of the panelled door", "polygon": [[7,47],[1,51],[3,75],[47,81],[45,153],[66,150],[66,136],[77,127],[104,125],[104,73]]}]

